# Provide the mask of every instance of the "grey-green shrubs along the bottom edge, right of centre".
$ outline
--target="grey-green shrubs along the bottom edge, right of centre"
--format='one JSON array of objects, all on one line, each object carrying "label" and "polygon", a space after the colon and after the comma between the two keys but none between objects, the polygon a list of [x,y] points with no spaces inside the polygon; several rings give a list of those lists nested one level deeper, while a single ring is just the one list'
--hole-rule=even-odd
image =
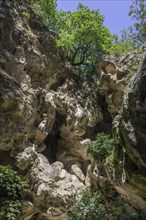
[{"label": "grey-green shrubs along the bottom edge, right of centre", "polygon": [[[145,220],[144,212],[129,209],[125,201],[115,189],[107,188],[99,192],[92,192],[90,188],[83,190],[82,197],[75,196],[72,200],[73,208],[67,210],[66,220]],[[130,210],[130,211],[129,211]]]}]

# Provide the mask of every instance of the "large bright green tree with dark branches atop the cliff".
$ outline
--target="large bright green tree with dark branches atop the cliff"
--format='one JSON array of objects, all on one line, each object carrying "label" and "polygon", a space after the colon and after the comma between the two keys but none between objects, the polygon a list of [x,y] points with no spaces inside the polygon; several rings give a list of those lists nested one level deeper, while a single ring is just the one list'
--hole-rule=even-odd
[{"label": "large bright green tree with dark branches atop the cliff", "polygon": [[85,74],[94,73],[94,62],[109,52],[110,31],[103,26],[103,16],[79,4],[77,11],[59,11],[58,46],[67,49],[71,63]]}]

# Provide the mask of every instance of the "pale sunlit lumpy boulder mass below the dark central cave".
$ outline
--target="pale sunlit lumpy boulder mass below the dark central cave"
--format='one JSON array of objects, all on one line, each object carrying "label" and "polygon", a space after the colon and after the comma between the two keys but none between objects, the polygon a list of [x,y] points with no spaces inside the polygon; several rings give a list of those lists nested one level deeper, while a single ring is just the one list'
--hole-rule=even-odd
[{"label": "pale sunlit lumpy boulder mass below the dark central cave", "polygon": [[61,162],[50,165],[47,158],[38,154],[28,173],[34,194],[34,204],[46,209],[50,206],[69,206],[70,198],[80,194],[84,184],[69,174]]}]

